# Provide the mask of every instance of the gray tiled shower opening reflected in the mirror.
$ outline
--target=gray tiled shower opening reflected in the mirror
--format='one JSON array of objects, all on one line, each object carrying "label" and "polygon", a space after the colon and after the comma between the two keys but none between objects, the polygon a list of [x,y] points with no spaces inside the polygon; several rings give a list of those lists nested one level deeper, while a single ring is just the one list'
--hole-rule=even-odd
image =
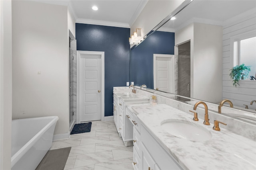
[{"label": "gray tiled shower opening reflected in the mirror", "polygon": [[[178,95],[190,98],[190,41],[178,45]],[[184,102],[186,98],[180,98]]]}]

